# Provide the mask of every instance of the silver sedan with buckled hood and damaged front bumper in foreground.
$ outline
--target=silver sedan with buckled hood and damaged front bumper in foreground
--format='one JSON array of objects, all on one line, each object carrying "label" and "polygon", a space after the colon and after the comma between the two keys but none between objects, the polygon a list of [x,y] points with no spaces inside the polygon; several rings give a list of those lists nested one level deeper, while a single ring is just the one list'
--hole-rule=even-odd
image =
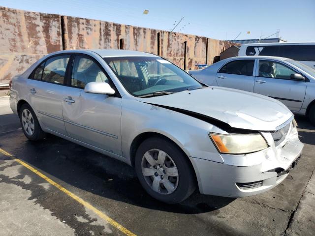
[{"label": "silver sedan with buckled hood and damaged front bumper in foreground", "polygon": [[207,87],[148,53],[56,52],[15,77],[10,91],[28,139],[47,132],[122,160],[166,203],[195,187],[225,197],[267,191],[303,148],[281,102]]}]

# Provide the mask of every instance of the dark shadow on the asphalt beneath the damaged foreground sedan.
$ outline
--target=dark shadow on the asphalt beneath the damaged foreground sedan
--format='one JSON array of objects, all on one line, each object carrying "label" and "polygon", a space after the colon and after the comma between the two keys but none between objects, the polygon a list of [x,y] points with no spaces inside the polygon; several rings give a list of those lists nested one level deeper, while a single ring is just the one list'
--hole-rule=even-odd
[{"label": "dark shadow on the asphalt beneath the damaged foreground sedan", "polygon": [[21,142],[23,146],[15,148],[20,150],[15,154],[18,158],[69,185],[103,198],[183,214],[216,213],[217,209],[234,201],[234,198],[202,195],[196,190],[184,202],[167,205],[149,196],[134,169],[121,161],[53,135],[40,142],[31,142],[26,140],[22,131],[14,133],[24,139]]}]

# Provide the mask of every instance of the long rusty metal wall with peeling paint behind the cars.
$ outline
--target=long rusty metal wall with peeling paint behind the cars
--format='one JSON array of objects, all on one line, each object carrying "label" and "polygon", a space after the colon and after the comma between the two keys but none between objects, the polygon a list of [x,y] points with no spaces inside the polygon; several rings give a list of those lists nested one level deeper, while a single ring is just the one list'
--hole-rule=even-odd
[{"label": "long rusty metal wall with peeling paint behind the cars", "polygon": [[[0,7],[0,83],[9,82],[37,59],[63,49],[124,49],[158,54],[186,69],[213,63],[233,43],[112,22]],[[206,43],[208,40],[208,52]],[[237,45],[237,44],[234,44]]]}]

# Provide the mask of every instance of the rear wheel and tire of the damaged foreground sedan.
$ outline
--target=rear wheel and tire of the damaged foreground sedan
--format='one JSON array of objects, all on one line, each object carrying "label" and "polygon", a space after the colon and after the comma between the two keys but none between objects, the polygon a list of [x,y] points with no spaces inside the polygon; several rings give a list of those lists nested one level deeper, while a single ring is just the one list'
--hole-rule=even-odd
[{"label": "rear wheel and tire of the damaged foreground sedan", "polygon": [[20,122],[25,136],[32,141],[45,138],[46,133],[41,129],[38,119],[29,104],[23,104],[20,109]]}]

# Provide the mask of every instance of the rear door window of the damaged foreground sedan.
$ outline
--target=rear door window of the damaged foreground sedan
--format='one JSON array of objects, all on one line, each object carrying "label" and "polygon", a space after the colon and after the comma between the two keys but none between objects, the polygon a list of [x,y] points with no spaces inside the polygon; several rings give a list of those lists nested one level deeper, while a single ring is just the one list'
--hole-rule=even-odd
[{"label": "rear door window of the damaged foreground sedan", "polygon": [[63,55],[46,60],[42,80],[50,83],[63,84],[69,58],[69,55]]}]

